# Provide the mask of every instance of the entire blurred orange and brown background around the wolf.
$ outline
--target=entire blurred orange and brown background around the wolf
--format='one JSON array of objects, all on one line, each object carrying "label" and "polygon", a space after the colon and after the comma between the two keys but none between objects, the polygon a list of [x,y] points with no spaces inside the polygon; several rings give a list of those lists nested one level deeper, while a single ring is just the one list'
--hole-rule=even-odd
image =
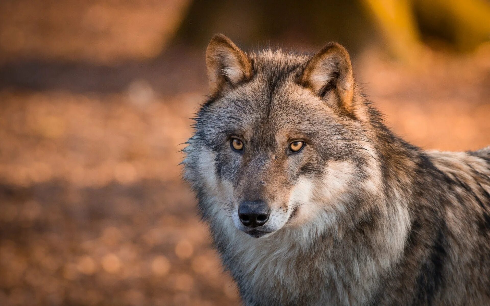
[{"label": "entire blurred orange and brown background around the wolf", "polygon": [[0,305],[239,305],[178,166],[218,32],[338,41],[398,134],[490,144],[489,0],[1,0]]}]

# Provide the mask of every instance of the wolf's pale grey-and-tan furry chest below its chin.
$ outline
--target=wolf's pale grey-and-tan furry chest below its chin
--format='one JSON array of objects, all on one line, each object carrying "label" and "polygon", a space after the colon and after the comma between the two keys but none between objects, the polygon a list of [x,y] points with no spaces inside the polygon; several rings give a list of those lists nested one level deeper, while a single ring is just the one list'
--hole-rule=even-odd
[{"label": "wolf's pale grey-and-tan furry chest below its chin", "polygon": [[349,258],[330,244],[298,244],[287,235],[217,238],[245,305],[359,305],[376,286],[368,261]]}]

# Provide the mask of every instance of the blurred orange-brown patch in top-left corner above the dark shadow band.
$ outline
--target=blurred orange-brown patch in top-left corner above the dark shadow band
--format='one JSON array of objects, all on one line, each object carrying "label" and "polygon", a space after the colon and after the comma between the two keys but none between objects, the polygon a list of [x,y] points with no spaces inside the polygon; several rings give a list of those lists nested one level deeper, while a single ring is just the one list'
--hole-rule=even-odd
[{"label": "blurred orange-brown patch in top-left corner above the dark shadow band", "polygon": [[162,52],[189,0],[4,0],[0,59],[115,63]]}]

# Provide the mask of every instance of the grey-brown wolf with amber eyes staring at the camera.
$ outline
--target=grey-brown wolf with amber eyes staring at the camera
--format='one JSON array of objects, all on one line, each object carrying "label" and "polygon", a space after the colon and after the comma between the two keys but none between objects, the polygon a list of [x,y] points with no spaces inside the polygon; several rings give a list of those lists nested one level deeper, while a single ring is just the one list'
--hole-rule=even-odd
[{"label": "grey-brown wolf with amber eyes staring at the camera", "polygon": [[206,65],[183,176],[244,305],[490,305],[490,147],[396,136],[338,43]]}]

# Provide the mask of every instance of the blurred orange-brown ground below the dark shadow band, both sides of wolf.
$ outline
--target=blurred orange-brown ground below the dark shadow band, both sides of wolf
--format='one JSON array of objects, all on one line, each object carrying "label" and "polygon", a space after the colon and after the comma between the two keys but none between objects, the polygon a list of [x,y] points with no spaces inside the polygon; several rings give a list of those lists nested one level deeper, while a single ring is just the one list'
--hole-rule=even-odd
[{"label": "blurred orange-brown ground below the dark shadow band, both sides of wolf", "polygon": [[[490,144],[487,56],[407,72],[368,54],[358,78],[399,134]],[[185,82],[182,79],[182,82]],[[177,152],[204,92],[0,92],[0,305],[236,305]]]}]

